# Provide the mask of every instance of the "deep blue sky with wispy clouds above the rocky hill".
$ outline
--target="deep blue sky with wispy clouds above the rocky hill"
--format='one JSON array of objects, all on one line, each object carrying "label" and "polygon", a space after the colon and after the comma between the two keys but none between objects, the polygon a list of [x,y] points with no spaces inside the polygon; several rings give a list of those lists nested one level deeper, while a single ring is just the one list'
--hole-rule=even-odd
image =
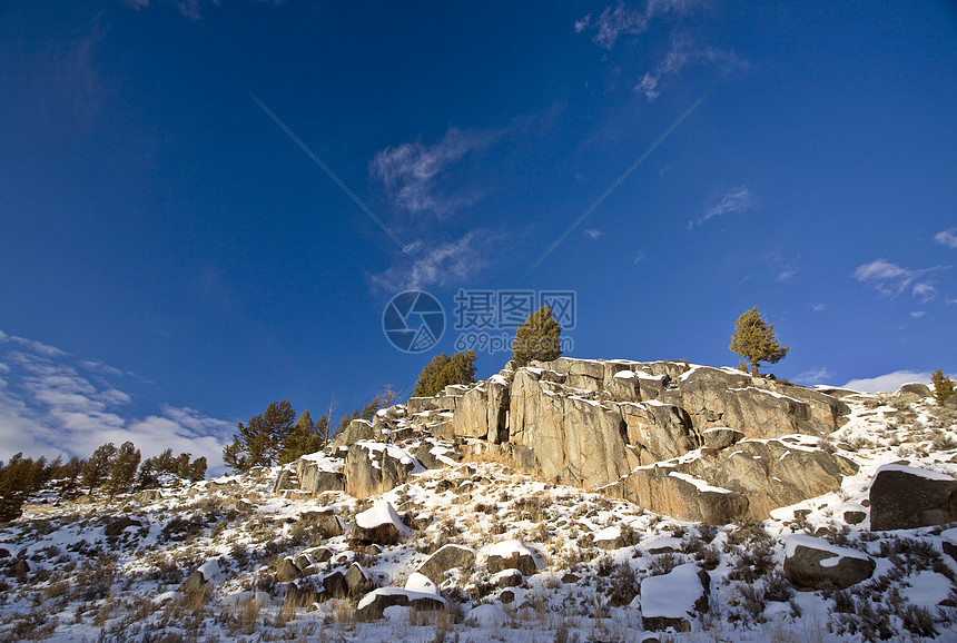
[{"label": "deep blue sky with wispy clouds above the rocky hill", "polygon": [[579,357],[734,365],[757,305],[778,376],[957,372],[953,3],[457,4],[0,3],[0,458],[215,462],[407,389],[460,289],[574,291]]}]

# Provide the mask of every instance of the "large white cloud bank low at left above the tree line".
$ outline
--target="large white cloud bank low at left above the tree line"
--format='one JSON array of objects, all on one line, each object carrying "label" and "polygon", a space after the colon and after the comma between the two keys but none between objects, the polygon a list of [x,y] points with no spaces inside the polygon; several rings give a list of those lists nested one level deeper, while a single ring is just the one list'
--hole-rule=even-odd
[{"label": "large white cloud bank low at left above the tree line", "polygon": [[0,360],[0,459],[17,452],[86,457],[107,442],[131,441],[144,457],[172,448],[205,456],[213,474],[224,471],[231,422],[169,405],[140,416],[119,369],[2,332]]}]

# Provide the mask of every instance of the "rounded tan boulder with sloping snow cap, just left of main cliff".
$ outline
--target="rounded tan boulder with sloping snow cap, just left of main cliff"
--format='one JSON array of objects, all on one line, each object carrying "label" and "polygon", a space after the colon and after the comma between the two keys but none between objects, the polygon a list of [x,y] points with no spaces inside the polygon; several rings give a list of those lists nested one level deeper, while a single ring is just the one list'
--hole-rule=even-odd
[{"label": "rounded tan boulder with sloping snow cap, just left of main cliff", "polygon": [[346,454],[343,473],[345,491],[357,498],[384,494],[403,484],[422,465],[392,444],[357,442]]}]

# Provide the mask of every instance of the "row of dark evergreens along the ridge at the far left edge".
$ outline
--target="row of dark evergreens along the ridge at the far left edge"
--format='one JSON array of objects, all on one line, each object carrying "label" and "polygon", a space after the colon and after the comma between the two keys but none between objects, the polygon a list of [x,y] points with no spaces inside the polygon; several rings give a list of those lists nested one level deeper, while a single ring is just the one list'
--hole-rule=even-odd
[{"label": "row of dark evergreens along the ridge at the far left edge", "polygon": [[160,455],[142,459],[134,443],[125,442],[119,447],[109,442],[97,447],[89,458],[72,456],[63,461],[57,456],[47,461],[13,455],[7,463],[0,461],[0,522],[11,521],[22,512],[30,494],[56,482],[55,491],[60,496],[77,494],[86,489],[89,494],[101,491],[109,499],[118,494],[159,486],[164,475],[172,475],[193,482],[206,477],[206,457],[190,459],[188,453],[172,455],[168,448]]}]

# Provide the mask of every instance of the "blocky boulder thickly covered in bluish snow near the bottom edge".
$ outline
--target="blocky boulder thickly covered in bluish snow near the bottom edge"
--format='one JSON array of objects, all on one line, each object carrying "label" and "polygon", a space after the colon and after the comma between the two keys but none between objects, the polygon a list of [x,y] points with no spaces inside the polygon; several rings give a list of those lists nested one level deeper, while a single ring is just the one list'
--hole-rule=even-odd
[{"label": "blocky boulder thickly covered in bluish snow near the bottom edge", "polygon": [[641,582],[641,621],[645,630],[690,632],[695,613],[708,612],[711,576],[694,563],[678,565]]}]

